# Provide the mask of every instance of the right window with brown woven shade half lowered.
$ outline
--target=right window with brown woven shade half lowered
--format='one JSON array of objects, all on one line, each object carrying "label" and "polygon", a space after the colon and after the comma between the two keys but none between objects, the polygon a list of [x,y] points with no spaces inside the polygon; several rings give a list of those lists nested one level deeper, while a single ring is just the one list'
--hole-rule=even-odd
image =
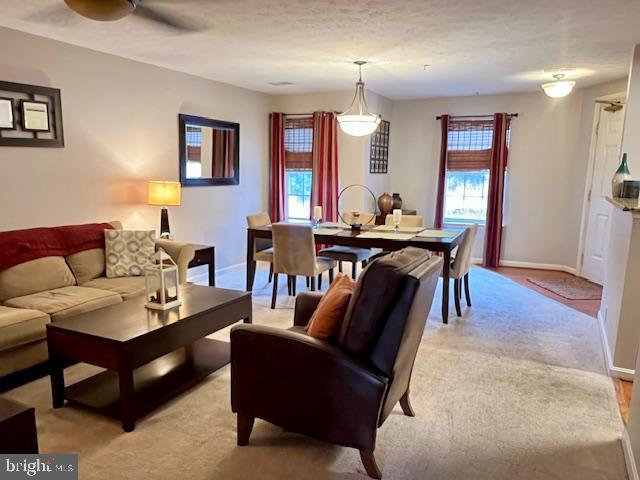
[{"label": "right window with brown woven shade half lowered", "polygon": [[485,222],[492,143],[492,120],[449,122],[444,223]]}]

